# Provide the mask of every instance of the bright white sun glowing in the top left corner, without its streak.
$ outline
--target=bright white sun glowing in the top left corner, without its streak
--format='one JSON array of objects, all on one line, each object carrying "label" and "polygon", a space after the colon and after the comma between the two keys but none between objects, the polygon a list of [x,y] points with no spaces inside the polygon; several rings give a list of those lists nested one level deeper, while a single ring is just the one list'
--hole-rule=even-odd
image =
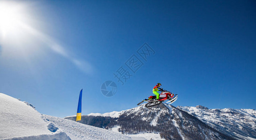
[{"label": "bright white sun glowing in the top left corner, without its streak", "polygon": [[33,4],[22,0],[0,0],[0,45],[6,52],[3,54],[19,57],[31,53],[36,40],[31,33],[34,29],[31,20],[34,19]]}]

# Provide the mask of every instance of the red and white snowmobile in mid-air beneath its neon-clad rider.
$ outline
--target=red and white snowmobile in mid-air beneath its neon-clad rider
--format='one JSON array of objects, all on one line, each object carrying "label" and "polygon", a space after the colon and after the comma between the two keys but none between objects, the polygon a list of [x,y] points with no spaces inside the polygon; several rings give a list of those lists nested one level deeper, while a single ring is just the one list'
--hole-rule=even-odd
[{"label": "red and white snowmobile in mid-air beneath its neon-clad rider", "polygon": [[160,89],[160,91],[162,91],[162,92],[161,92],[161,94],[159,94],[159,99],[157,99],[157,96],[150,96],[148,99],[143,99],[142,102],[140,102],[137,105],[140,105],[144,101],[146,101],[148,103],[145,106],[146,107],[151,107],[151,106],[154,106],[154,105],[159,105],[159,104],[161,104],[162,102],[164,102],[166,100],[169,100],[166,103],[168,103],[168,105],[170,105],[173,102],[175,102],[177,100],[177,98],[178,98],[177,94],[174,95],[170,91],[166,91],[166,90],[163,90],[163,89]]}]

